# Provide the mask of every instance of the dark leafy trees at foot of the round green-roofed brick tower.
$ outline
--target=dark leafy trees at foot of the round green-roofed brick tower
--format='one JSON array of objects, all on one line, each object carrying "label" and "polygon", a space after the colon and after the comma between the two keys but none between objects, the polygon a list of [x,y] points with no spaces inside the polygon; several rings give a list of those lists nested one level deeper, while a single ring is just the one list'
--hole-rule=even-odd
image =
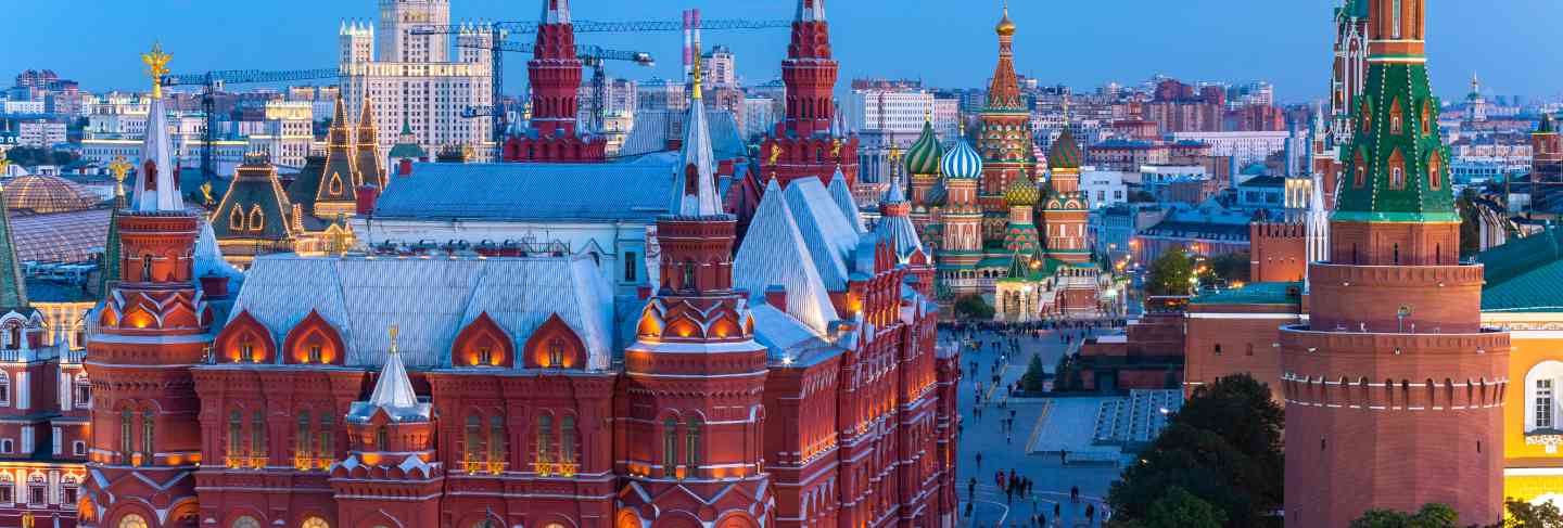
[{"label": "dark leafy trees at foot of the round green-roofed brick tower", "polygon": [[1113,483],[1108,501],[1124,520],[1143,522],[1147,506],[1179,486],[1224,512],[1225,526],[1279,523],[1269,512],[1285,500],[1283,422],[1269,386],[1249,375],[1200,386]]}]

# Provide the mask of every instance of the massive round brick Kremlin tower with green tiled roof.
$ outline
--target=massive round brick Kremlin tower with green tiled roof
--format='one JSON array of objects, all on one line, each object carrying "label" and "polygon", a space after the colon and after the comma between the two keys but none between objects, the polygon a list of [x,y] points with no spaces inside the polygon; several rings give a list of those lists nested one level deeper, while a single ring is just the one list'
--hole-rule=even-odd
[{"label": "massive round brick Kremlin tower with green tiled roof", "polygon": [[1480,328],[1483,269],[1458,262],[1427,2],[1369,9],[1330,258],[1308,269],[1308,323],[1282,328],[1286,525],[1344,526],[1369,508],[1425,503],[1485,525],[1502,514],[1508,334]]}]

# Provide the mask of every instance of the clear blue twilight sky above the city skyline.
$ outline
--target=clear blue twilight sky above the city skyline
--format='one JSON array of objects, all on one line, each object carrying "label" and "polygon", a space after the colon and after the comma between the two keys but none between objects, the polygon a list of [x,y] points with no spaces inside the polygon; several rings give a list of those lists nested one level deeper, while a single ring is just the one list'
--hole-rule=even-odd
[{"label": "clear blue twilight sky above the city skyline", "polygon": [[[453,19],[535,20],[542,0],[452,0]],[[1018,70],[1047,84],[1089,89],[1153,73],[1186,81],[1269,80],[1277,98],[1322,97],[1330,8],[1338,0],[1013,0]],[[833,0],[832,39],[842,81],[922,78],[933,86],[983,86],[993,72],[1000,0]],[[1435,91],[1466,92],[1480,73],[1488,94],[1555,97],[1563,53],[1560,0],[1432,0],[1429,53]],[[53,69],[92,91],[144,86],[138,53],[161,39],[175,72],[313,69],[336,64],[341,19],[374,19],[375,0],[0,0],[0,80]],[[575,0],[580,20],[674,20],[683,8],[706,19],[789,19],[796,0]],[[705,44],[738,53],[746,83],[778,77],[786,30],[706,31]],[[655,69],[613,64],[610,75],[680,72],[678,33],[581,34],[578,42],[650,52]],[[510,61],[508,94],[522,89],[522,58]]]}]

